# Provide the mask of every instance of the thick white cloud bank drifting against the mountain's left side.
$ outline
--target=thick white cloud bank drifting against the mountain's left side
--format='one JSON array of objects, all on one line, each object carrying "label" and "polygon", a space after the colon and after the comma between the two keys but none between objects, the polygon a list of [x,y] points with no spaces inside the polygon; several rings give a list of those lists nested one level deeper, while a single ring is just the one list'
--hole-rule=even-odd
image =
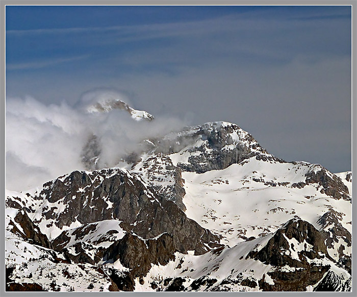
[{"label": "thick white cloud bank drifting against the mountain's left side", "polygon": [[[114,94],[113,90],[95,90],[87,96],[93,100]],[[7,98],[6,108],[6,187],[17,191],[85,169],[82,150],[92,134],[102,149],[101,167],[111,167],[143,138],[183,125],[166,118],[138,122],[122,110],[89,114],[64,102],[46,106],[32,97]]]}]

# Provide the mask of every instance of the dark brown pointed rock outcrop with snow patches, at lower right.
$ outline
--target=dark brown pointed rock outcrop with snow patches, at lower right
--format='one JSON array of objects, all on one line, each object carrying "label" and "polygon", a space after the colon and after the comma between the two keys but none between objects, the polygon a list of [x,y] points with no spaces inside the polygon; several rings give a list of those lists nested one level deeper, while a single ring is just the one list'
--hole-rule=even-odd
[{"label": "dark brown pointed rock outcrop with snow patches, at lower right", "polygon": [[[287,238],[294,238],[298,243],[303,244],[304,248],[299,251],[298,247],[289,243]],[[263,276],[259,281],[259,287],[264,291],[304,291],[307,286],[316,284],[330,266],[315,264],[310,260],[324,257],[332,260],[325,245],[326,238],[324,232],[318,231],[307,221],[301,219],[288,221],[285,226],[275,232],[263,249],[253,250],[247,255],[247,258],[276,266],[274,271],[268,273],[274,285],[267,283]],[[292,257],[289,251],[296,251],[299,260]],[[294,267],[294,270],[283,270],[282,267],[285,265]]]}]

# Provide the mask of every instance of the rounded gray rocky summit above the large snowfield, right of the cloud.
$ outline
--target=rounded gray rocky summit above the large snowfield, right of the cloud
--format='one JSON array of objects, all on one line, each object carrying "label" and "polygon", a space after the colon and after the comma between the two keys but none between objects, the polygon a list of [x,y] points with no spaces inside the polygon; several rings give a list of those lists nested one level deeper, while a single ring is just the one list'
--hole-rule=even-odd
[{"label": "rounded gray rocky summit above the large snowfield, right of the cloud", "polygon": [[203,173],[225,169],[228,166],[256,156],[258,160],[278,161],[247,132],[233,123],[212,122],[188,128],[157,141],[155,153],[166,155],[188,149],[186,163],[177,163],[185,171]]}]

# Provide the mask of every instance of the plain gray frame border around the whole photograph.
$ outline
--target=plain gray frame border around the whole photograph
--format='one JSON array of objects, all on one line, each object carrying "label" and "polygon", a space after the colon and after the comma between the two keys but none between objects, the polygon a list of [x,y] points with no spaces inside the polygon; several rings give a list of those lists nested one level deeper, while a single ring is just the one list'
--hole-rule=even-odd
[{"label": "plain gray frame border around the whole photograph", "polygon": [[[351,132],[352,132],[352,172],[357,170],[357,102],[356,102],[356,70],[357,70],[357,0],[0,0],[0,189],[1,199],[4,199],[3,207],[0,207],[0,217],[5,218],[5,6],[6,5],[347,5],[352,10],[352,65],[351,65]],[[354,50],[354,51],[353,51]],[[352,174],[352,197],[357,195],[357,186]],[[101,296],[105,294],[118,294],[119,296],[357,296],[356,267],[356,215],[357,208],[352,199],[352,291],[351,292],[6,292],[5,291],[5,228],[0,228],[0,296],[45,296],[45,295],[69,295],[69,296]],[[4,222],[4,221],[3,221]],[[3,226],[3,225],[2,225]]]}]

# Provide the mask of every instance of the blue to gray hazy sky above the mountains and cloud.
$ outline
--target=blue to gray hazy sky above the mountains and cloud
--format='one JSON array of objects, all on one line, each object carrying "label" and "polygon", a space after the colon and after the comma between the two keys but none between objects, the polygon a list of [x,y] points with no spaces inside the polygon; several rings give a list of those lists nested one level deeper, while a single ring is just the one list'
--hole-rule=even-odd
[{"label": "blue to gray hazy sky above the mountains and cloud", "polygon": [[351,169],[350,63],[348,6],[6,7],[7,100],[114,89],[331,171]]}]

